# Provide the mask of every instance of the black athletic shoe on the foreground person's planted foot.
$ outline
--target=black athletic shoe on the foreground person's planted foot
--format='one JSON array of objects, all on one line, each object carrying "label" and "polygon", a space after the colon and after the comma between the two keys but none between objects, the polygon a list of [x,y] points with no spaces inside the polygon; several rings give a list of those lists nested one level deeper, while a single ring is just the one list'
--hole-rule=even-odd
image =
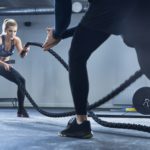
[{"label": "black athletic shoe on the foreground person's planted foot", "polygon": [[89,139],[93,136],[90,122],[84,121],[82,124],[77,124],[76,118],[70,119],[66,129],[61,131],[59,135],[81,139]]}]

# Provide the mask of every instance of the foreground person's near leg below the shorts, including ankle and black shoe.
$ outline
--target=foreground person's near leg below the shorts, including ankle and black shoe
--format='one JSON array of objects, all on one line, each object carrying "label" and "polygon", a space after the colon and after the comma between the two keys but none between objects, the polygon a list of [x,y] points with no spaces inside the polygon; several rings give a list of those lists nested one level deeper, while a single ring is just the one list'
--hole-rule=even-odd
[{"label": "foreground person's near leg below the shorts, including ankle and black shoe", "polygon": [[69,51],[69,79],[73,96],[76,119],[71,119],[61,136],[76,138],[91,138],[91,126],[87,120],[87,97],[89,83],[87,75],[87,60],[109,34],[97,32],[79,26],[73,36]]}]

